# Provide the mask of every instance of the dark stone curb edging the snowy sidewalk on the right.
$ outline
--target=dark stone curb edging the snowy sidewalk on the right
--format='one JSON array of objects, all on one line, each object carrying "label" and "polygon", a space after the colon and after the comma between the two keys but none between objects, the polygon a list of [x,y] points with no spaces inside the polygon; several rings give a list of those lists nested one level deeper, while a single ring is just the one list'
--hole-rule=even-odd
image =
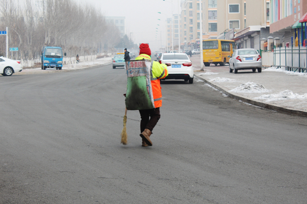
[{"label": "dark stone curb edging the snowy sidewalk on the right", "polygon": [[249,103],[249,104],[252,104],[252,105],[256,105],[256,106],[259,106],[259,107],[262,107],[262,108],[272,109],[272,110],[276,110],[276,111],[279,111],[279,112],[284,112],[286,114],[296,115],[296,116],[300,116],[300,117],[307,117],[307,112],[305,112],[305,111],[291,109],[291,108],[284,108],[284,107],[280,107],[280,106],[277,106],[277,105],[271,105],[271,104],[268,104],[268,103],[255,101],[255,100],[252,100],[250,98],[243,97],[243,96],[240,96],[240,95],[231,94],[231,93],[227,92],[227,90],[225,90],[221,86],[217,86],[217,85],[211,83],[210,81],[208,81],[204,78],[201,78],[201,77],[196,76],[196,75],[194,75],[194,77],[206,82],[207,84],[211,85],[212,87],[216,88],[217,90],[220,90],[220,92],[222,92],[223,94],[226,94],[227,96],[229,96],[231,98],[241,100],[243,102],[246,102],[246,103]]}]

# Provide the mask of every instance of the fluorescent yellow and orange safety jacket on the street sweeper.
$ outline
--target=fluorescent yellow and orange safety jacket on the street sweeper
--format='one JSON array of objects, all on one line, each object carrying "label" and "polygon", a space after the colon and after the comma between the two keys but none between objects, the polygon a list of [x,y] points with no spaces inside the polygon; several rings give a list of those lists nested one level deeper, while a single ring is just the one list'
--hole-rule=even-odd
[{"label": "fluorescent yellow and orange safety jacket on the street sweeper", "polygon": [[[148,59],[150,60],[150,56],[146,54],[141,54],[136,57],[136,60]],[[155,108],[162,106],[162,92],[160,79],[164,79],[168,75],[166,64],[160,64],[157,61],[153,61],[150,67],[150,81],[153,95],[153,102],[155,103]]]}]

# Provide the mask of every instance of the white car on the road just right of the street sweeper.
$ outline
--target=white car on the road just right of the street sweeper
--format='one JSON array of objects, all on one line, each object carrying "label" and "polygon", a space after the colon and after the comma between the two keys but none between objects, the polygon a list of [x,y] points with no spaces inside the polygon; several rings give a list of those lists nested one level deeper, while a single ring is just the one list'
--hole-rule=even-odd
[{"label": "white car on the road just right of the street sweeper", "polygon": [[193,83],[193,66],[187,54],[163,53],[159,62],[168,65],[168,76],[165,79],[184,79]]}]

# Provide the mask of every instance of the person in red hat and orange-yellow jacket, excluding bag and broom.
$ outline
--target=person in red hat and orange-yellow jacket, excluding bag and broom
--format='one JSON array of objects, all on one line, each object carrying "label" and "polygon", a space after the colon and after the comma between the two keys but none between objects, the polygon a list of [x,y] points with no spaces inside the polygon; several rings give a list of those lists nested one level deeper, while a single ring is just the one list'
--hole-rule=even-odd
[{"label": "person in red hat and orange-yellow jacket, excluding bag and broom", "polygon": [[[135,60],[142,60],[150,58],[151,51],[148,44],[140,44],[140,55],[136,57]],[[160,107],[162,106],[162,92],[160,86],[160,79],[164,79],[168,75],[166,64],[160,64],[157,61],[152,62],[152,71],[151,71],[151,87],[153,100],[155,103],[155,108],[139,110],[141,115],[141,138],[142,138],[142,147],[152,146],[150,140],[150,135],[152,134],[152,129],[158,123],[160,115]]]}]

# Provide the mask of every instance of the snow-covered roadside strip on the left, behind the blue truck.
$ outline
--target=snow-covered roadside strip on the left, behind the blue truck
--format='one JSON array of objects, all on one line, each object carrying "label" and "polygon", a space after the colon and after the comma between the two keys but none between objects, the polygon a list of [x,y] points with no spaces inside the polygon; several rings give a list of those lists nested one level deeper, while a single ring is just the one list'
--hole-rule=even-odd
[{"label": "snow-covered roadside strip on the left, behind the blue truck", "polygon": [[112,57],[106,57],[101,59],[96,59],[95,61],[86,61],[75,64],[63,65],[62,70],[56,70],[53,68],[47,68],[47,70],[42,70],[41,67],[33,68],[33,69],[25,69],[21,72],[14,73],[14,75],[23,75],[23,74],[44,74],[44,73],[52,73],[52,72],[67,72],[72,70],[81,70],[90,68],[93,66],[100,66],[112,63]]}]

